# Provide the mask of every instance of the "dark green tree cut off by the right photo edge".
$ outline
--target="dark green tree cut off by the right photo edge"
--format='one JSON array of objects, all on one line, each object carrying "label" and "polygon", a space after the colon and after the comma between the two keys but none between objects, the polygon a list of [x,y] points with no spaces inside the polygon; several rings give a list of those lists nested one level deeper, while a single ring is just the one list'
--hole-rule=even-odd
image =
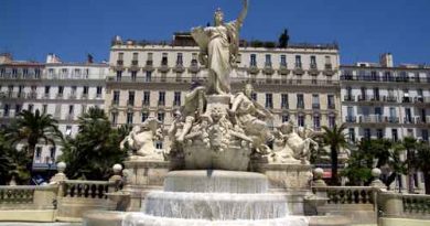
[{"label": "dark green tree cut off by the right photo edge", "polygon": [[430,146],[428,143],[417,144],[417,155],[413,165],[421,170],[424,177],[426,194],[430,194]]}]

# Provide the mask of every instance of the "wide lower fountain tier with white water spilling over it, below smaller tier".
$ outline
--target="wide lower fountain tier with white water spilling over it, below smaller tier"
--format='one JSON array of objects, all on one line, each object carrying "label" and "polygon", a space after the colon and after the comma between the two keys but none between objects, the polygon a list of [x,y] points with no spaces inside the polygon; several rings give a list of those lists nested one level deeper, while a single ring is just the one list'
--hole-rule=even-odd
[{"label": "wide lower fountain tier with white water spilling over it, below smaller tier", "polygon": [[151,192],[146,214],[184,219],[268,219],[288,215],[283,194]]}]

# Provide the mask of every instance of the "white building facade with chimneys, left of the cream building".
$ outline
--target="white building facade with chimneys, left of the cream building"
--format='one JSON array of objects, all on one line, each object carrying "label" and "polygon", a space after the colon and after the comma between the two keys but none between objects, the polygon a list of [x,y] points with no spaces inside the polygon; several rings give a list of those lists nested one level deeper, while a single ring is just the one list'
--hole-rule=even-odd
[{"label": "white building facade with chimneys, left of the cream building", "polygon": [[[49,55],[46,63],[0,64],[0,122],[8,125],[21,110],[50,114],[64,136],[77,133],[77,118],[89,107],[104,108],[107,64],[62,63]],[[55,169],[61,147],[36,147],[33,169]]]}]

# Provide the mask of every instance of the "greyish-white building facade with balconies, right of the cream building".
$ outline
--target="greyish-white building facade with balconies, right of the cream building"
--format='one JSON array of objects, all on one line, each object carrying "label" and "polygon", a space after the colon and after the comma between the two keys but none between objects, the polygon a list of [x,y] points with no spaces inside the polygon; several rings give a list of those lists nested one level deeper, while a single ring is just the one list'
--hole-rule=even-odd
[{"label": "greyish-white building facade with balconies, right of the cream building", "polygon": [[[384,54],[380,63],[341,66],[342,120],[351,141],[413,137],[429,142],[430,67],[393,62]],[[423,187],[421,173],[415,181]],[[406,176],[397,186],[407,186]]]}]

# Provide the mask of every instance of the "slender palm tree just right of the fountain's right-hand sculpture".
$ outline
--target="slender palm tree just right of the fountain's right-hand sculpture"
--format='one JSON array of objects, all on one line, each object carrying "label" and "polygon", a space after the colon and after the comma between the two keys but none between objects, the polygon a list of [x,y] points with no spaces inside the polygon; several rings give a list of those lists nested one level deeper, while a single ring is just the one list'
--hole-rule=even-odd
[{"label": "slender palm tree just right of the fountain's right-hand sculpture", "polygon": [[327,127],[322,128],[324,130],[324,133],[322,134],[322,138],[324,140],[324,143],[326,146],[330,146],[330,159],[332,161],[332,179],[331,183],[333,185],[338,184],[338,176],[337,176],[337,166],[338,166],[338,152],[342,148],[345,148],[347,144],[346,141],[346,134],[344,133],[344,130],[346,129],[346,125],[343,123],[340,127],[337,125],[334,125],[332,129]]}]

